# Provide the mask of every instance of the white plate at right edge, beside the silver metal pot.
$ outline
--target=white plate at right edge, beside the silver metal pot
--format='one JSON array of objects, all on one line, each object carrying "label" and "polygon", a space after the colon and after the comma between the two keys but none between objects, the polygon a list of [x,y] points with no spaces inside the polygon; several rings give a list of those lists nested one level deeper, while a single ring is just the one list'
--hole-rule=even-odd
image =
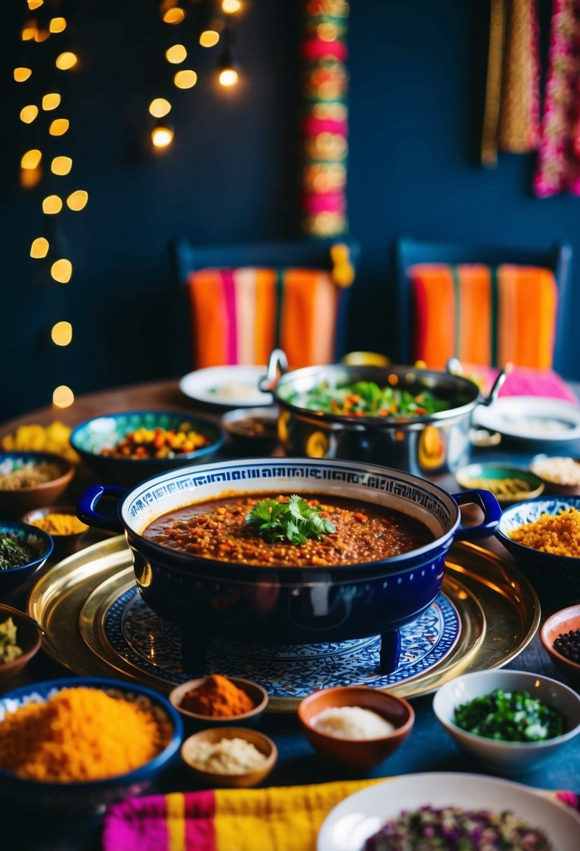
[{"label": "white plate at right edge, beside the silver metal pot", "polygon": [[580,407],[562,399],[504,396],[474,411],[478,426],[506,437],[563,443],[580,437]]}]

